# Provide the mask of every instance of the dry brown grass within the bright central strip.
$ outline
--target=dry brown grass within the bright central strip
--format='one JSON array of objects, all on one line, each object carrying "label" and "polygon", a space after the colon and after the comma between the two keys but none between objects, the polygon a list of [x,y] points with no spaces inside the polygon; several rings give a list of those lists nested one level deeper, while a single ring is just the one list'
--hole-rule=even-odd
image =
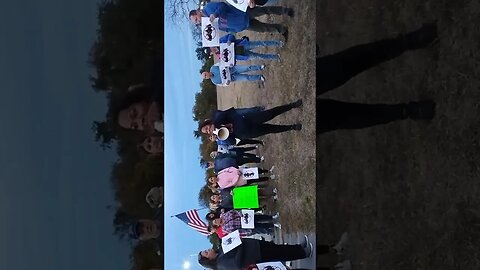
[{"label": "dry brown grass within the bright central strip", "polygon": [[[288,132],[263,136],[266,146],[259,153],[264,155],[265,166],[275,165],[278,180],[273,184],[279,190],[279,202],[274,208],[281,213],[285,232],[314,231],[315,228],[315,16],[314,1],[278,1],[292,7],[296,16],[264,16],[261,21],[281,22],[289,27],[289,40],[283,48],[261,49],[259,52],[278,51],[282,62],[255,60],[264,63],[266,81],[235,83],[217,87],[218,106],[250,107],[263,105],[271,108],[303,98],[303,108],[294,109],[275,118],[272,123],[289,124],[300,121],[301,132]],[[263,34],[245,31],[250,40],[270,40],[283,37],[279,34]],[[244,62],[248,63],[248,62]]]}]

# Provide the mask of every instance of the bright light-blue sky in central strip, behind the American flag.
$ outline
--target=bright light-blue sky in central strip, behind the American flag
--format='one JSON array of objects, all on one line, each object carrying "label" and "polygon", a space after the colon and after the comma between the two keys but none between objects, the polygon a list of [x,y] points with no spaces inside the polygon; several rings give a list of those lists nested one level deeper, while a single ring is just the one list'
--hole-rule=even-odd
[{"label": "bright light-blue sky in central strip, behind the American flag", "polygon": [[[165,21],[165,269],[203,269],[197,263],[200,250],[210,242],[177,218],[170,216],[201,208],[198,192],[205,184],[205,169],[200,167],[200,140],[193,137],[197,125],[192,107],[200,91],[201,62],[187,19],[179,26]],[[200,211],[204,217],[207,210]]]}]

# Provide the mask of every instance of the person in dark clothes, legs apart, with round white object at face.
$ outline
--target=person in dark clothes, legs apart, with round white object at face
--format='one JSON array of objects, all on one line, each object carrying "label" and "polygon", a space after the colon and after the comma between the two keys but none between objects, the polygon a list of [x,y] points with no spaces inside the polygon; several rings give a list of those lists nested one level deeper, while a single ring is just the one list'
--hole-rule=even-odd
[{"label": "person in dark clothes, legs apart, with round white object at face", "polygon": [[277,106],[265,111],[239,112],[235,108],[225,111],[217,110],[211,119],[206,119],[199,125],[199,131],[203,134],[212,134],[216,128],[227,126],[236,138],[256,138],[270,133],[281,133],[291,130],[302,130],[302,124],[273,125],[267,124],[280,114],[303,105],[301,99],[282,106]]}]

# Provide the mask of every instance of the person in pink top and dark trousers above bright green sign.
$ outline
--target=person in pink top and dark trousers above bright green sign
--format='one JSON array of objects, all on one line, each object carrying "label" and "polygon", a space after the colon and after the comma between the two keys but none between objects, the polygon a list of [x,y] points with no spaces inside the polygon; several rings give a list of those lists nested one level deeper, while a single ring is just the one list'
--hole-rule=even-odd
[{"label": "person in pink top and dark trousers above bright green sign", "polygon": [[[269,173],[269,170],[265,169],[258,169],[259,174],[266,174]],[[229,188],[229,187],[238,187],[238,186],[244,186],[247,184],[252,184],[252,183],[258,183],[258,182],[264,182],[268,181],[270,179],[275,179],[275,175],[271,174],[270,176],[262,176],[257,179],[250,179],[250,180],[245,180],[245,177],[239,169],[235,167],[229,167],[226,169],[221,170],[217,174],[217,179],[218,179],[218,186],[220,188]]]}]

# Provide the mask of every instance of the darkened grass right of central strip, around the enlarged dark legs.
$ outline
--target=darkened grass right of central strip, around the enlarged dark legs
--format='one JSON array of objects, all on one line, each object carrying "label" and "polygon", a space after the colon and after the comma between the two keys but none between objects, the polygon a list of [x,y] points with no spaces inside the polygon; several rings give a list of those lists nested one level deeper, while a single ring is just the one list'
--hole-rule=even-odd
[{"label": "darkened grass right of central strip, around the enlarged dark legs", "polygon": [[372,103],[428,97],[437,115],[317,138],[317,239],[349,231],[355,269],[480,269],[480,3],[321,1],[316,18],[321,54],[430,20],[440,36],[436,46],[325,95]]}]

